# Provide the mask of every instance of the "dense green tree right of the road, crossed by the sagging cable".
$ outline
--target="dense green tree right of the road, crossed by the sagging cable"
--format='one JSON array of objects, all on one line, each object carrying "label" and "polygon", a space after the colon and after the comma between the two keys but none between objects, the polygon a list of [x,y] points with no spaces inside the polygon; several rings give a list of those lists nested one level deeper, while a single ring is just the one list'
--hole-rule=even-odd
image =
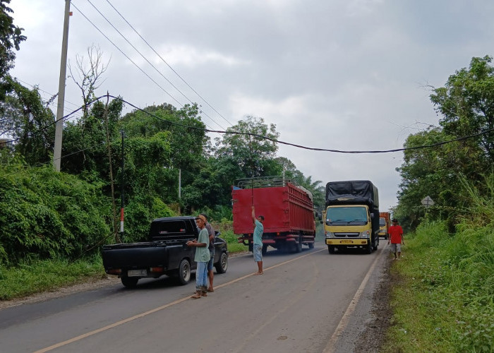
[{"label": "dense green tree right of the road, crossed by the sagging cable", "polygon": [[494,163],[494,68],[490,56],[473,58],[448,78],[445,87],[434,88],[430,100],[442,115],[437,128],[428,128],[407,138],[404,147],[413,148],[454,140],[433,148],[406,150],[404,163],[397,170],[402,177],[395,213],[402,223],[416,227],[426,214],[421,200],[435,201],[428,217],[448,221],[454,230],[469,196],[461,180],[485,189],[485,175]]}]

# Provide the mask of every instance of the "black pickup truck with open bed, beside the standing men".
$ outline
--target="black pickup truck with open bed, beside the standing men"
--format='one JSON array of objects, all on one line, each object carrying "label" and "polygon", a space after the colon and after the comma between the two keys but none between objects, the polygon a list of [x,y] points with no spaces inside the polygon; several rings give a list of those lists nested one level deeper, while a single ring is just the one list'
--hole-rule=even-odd
[{"label": "black pickup truck with open bed, beside the standing men", "polygon": [[[104,245],[104,270],[118,275],[125,287],[135,287],[139,278],[162,275],[177,277],[181,285],[191,280],[195,270],[195,246],[186,242],[198,239],[195,217],[166,217],[153,220],[148,241],[143,243]],[[215,268],[225,273],[228,268],[228,249],[224,239],[215,237]]]}]

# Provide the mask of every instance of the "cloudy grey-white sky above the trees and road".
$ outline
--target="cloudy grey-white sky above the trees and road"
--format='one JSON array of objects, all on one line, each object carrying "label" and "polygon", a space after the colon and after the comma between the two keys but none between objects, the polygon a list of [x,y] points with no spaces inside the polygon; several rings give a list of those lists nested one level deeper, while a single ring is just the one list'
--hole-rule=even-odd
[{"label": "cloudy grey-white sky above the trees and road", "polygon": [[[59,89],[65,1],[10,7],[28,37],[11,74],[49,100]],[[494,55],[492,0],[73,0],[71,11],[71,67],[88,62],[93,44],[107,64],[97,96],[140,108],[197,102],[214,130],[256,116],[275,124],[279,140],[309,148],[402,148],[438,126],[431,88],[472,57]],[[72,78],[65,98],[66,114],[80,107]],[[403,152],[279,145],[278,155],[322,185],[373,181],[380,210],[397,205]]]}]

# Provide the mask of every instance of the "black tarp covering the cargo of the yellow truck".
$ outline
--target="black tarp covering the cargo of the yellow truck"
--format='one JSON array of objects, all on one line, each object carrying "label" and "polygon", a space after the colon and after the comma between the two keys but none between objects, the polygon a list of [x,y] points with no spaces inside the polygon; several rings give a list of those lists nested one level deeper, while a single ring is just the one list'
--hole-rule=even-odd
[{"label": "black tarp covering the cargo of the yellow truck", "polygon": [[368,180],[330,181],[326,184],[326,205],[361,203],[379,208],[378,189]]}]

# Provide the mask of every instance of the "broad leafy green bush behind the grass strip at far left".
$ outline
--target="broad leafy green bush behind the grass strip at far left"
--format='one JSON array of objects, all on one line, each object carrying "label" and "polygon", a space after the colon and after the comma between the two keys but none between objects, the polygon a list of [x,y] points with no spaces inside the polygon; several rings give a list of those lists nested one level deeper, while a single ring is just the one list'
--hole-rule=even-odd
[{"label": "broad leafy green bush behind the grass strip at far left", "polygon": [[97,186],[51,167],[16,169],[0,168],[1,263],[76,258],[109,233]]}]

